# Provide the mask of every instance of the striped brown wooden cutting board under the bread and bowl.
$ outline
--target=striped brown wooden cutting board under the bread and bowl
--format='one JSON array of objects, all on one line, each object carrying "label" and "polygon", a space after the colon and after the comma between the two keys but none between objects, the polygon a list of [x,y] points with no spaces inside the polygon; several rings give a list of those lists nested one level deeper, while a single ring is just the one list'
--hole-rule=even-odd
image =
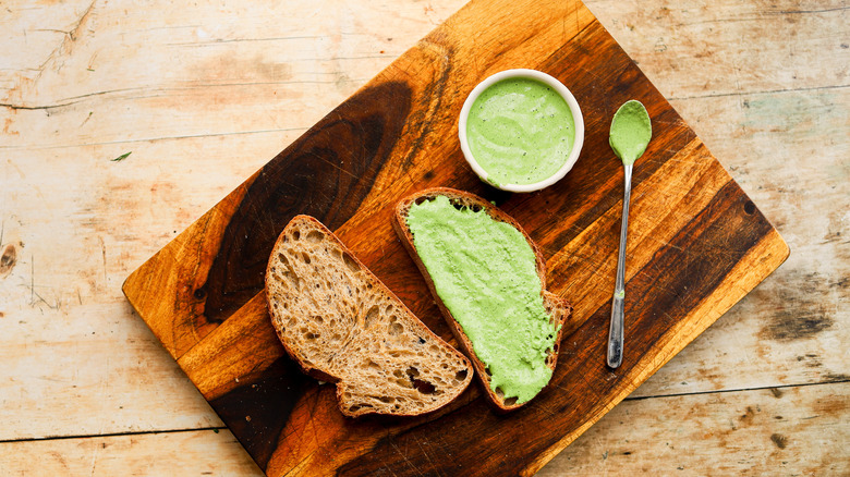
[{"label": "striped brown wooden cutting board under the bread and bowl", "polygon": [[[508,194],[464,162],[457,118],[486,76],[532,68],[582,107],[584,149],[558,184]],[[605,365],[622,167],[616,109],[649,111],[635,166],[623,365]],[[317,217],[454,343],[390,225],[401,197],[450,186],[495,200],[546,259],[574,319],[550,388],[499,415],[473,383],[416,418],[344,418],[302,375],[266,311],[263,272],[298,213]],[[124,293],[268,475],[530,475],[776,269],[789,250],[702,142],[578,0],[473,1],[248,178],[127,278]],[[638,425],[640,423],[631,423]]]}]

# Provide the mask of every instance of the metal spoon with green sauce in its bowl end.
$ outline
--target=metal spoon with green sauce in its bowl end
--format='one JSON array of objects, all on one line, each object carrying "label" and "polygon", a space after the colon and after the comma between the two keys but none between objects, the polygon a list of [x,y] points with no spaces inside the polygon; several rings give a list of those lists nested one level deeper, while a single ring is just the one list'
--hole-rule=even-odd
[{"label": "metal spoon with green sauce in its bowl end", "polygon": [[611,327],[608,332],[608,366],[616,368],[622,364],[623,343],[623,303],[626,301],[626,232],[629,229],[629,201],[632,196],[632,166],[643,156],[652,138],[653,129],[649,114],[640,101],[627,101],[611,121],[608,144],[622,160],[626,193],[622,199],[622,224],[620,225],[620,253],[617,259],[617,283],[611,303]]}]

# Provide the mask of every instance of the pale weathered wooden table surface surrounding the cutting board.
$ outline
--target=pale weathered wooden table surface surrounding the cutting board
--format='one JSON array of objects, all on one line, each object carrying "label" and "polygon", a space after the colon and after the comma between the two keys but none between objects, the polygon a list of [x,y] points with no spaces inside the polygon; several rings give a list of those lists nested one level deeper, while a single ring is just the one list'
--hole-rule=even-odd
[{"label": "pale weathered wooden table surface surrounding the cutting board", "polygon": [[[260,474],[121,284],[462,3],[0,5],[0,475]],[[792,253],[538,475],[847,475],[847,2],[586,3]]]}]

